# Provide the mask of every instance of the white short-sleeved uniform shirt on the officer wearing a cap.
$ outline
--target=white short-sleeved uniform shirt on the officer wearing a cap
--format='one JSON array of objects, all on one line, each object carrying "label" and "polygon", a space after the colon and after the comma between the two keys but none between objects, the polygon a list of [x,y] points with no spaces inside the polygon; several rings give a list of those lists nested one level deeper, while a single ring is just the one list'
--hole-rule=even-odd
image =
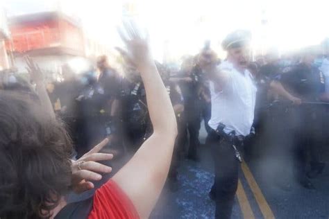
[{"label": "white short-sleeved uniform shirt on the officer wearing a cap", "polygon": [[219,123],[226,125],[224,132],[235,130],[235,134],[246,136],[253,125],[256,87],[248,70],[237,71],[230,62],[223,62],[219,69],[229,72],[229,79],[222,91],[215,91],[210,82],[212,101],[209,125],[216,130]]}]

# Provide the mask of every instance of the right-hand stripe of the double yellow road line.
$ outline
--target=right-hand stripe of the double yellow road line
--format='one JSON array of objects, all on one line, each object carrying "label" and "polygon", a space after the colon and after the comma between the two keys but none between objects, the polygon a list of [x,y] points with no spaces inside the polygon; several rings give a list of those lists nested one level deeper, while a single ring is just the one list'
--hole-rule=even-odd
[{"label": "right-hand stripe of the double yellow road line", "polygon": [[246,165],[246,162],[243,161],[241,167],[242,171],[244,172],[244,176],[246,177],[246,180],[251,188],[251,191],[253,191],[255,200],[258,203],[258,206],[260,207],[260,211],[262,211],[262,215],[266,219],[274,219],[275,217],[273,215],[273,212],[269,207],[269,204],[267,204],[267,200],[265,200],[262,191],[260,191],[260,187],[258,186],[256,180],[253,177],[253,174]]}]

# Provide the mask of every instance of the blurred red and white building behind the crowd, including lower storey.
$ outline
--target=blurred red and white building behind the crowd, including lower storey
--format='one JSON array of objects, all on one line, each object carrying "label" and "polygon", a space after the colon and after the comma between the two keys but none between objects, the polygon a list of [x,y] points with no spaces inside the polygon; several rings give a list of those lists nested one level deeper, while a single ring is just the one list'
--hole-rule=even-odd
[{"label": "blurred red and white building behind the crowd, including lower storey", "polygon": [[9,17],[8,29],[10,38],[6,40],[6,54],[13,54],[13,65],[19,73],[26,72],[26,55],[31,56],[40,68],[53,73],[51,77],[56,80],[65,64],[78,64],[78,69],[82,70],[81,65],[87,67],[97,55],[108,55],[110,51],[86,37],[78,19],[58,11]]}]

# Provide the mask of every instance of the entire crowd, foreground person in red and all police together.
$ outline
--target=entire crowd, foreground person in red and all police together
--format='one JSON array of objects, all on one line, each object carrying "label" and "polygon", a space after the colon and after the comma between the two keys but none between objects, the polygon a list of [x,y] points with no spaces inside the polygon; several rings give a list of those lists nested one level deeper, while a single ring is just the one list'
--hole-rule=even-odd
[{"label": "entire crowd, foreground person in red and all police together", "polygon": [[[239,162],[260,151],[288,156],[296,182],[314,189],[325,168],[328,48],[250,62],[251,35],[237,30],[223,40],[225,60],[207,42],[173,70],[152,59],[133,24],[125,27],[127,50],[117,48],[124,76],[102,55],[80,74],[63,66],[60,82],[46,82],[31,58],[30,81],[2,77],[0,218],[147,218],[165,182],[179,189],[180,161],[199,161],[201,121],[216,218],[230,218]],[[94,188],[104,174],[109,180]],[[67,204],[69,191],[90,189],[92,198]]]}]

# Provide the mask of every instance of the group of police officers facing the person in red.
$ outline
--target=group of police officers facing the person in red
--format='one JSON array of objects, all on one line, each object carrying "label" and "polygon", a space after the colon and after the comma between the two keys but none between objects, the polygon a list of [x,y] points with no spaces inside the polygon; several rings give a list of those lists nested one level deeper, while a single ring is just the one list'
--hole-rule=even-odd
[{"label": "group of police officers facing the person in red", "polygon": [[[210,198],[216,218],[230,218],[237,189],[239,162],[266,156],[288,156],[296,182],[314,189],[311,179],[322,173],[321,158],[328,142],[324,129],[329,102],[329,40],[324,53],[302,49],[293,55],[275,51],[250,62],[248,31],[230,33],[222,46],[228,58],[220,60],[206,42],[197,55],[185,57],[176,70],[156,62],[176,113],[178,137],[168,184],[177,191],[178,166],[183,159],[199,161],[199,131],[204,121],[214,157],[215,179]],[[67,125],[76,158],[104,137],[104,150],[115,155],[113,172],[124,165],[151,135],[146,93],[140,74],[118,49],[124,76],[103,55],[95,67],[76,74],[62,67],[62,80],[49,82],[47,91],[56,115]],[[2,80],[2,89],[31,91],[14,74]],[[161,103],[158,103],[161,104]]]}]

